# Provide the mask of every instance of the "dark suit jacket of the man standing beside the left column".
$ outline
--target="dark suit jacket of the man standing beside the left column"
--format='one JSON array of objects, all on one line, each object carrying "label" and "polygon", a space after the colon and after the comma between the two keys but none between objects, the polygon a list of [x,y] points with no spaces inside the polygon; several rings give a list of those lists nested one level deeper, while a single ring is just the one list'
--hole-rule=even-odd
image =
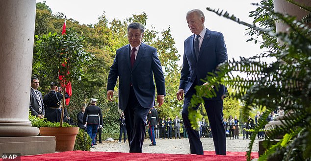
[{"label": "dark suit jacket of the man standing beside the left column", "polygon": [[45,106],[43,103],[43,97],[42,93],[38,91],[40,99],[41,99],[41,104],[42,104],[42,112],[39,113],[39,100],[37,98],[36,93],[30,88],[30,102],[29,102],[29,110],[31,111],[32,115],[38,116],[38,115],[45,115]]}]

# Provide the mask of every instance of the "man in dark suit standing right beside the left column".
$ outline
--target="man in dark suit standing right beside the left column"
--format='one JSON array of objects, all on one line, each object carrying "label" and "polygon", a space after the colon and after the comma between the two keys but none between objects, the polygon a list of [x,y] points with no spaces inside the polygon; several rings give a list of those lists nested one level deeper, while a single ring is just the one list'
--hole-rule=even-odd
[{"label": "man in dark suit standing right beside the left column", "polygon": [[38,91],[39,79],[36,77],[31,78],[31,88],[30,88],[30,102],[29,110],[31,115],[35,115],[39,118],[44,118],[45,106],[43,103],[42,93]]}]

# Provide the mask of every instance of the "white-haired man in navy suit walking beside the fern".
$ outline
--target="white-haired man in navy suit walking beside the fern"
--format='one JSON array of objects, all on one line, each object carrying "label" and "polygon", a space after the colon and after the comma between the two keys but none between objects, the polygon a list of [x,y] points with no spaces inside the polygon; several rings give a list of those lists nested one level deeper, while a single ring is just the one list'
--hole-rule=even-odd
[{"label": "white-haired man in navy suit walking beside the fern", "polygon": [[[192,95],[196,93],[194,87],[207,86],[216,92],[215,97],[204,98],[207,117],[213,132],[215,152],[219,155],[226,155],[222,109],[223,95],[227,89],[223,85],[213,87],[201,80],[206,78],[208,72],[214,72],[219,64],[228,60],[223,34],[204,27],[205,17],[201,10],[189,11],[186,20],[193,35],[184,41],[183,64],[177,99],[181,100],[184,94],[182,118],[189,137],[190,153],[203,155],[203,146],[199,133],[191,128],[188,119],[188,106]],[[196,106],[196,110],[199,105]]]}]

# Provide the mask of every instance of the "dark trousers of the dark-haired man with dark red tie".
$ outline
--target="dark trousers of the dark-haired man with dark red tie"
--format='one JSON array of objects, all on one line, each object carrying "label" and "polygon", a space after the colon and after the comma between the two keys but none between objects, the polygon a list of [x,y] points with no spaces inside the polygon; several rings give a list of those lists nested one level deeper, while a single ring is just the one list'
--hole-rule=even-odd
[{"label": "dark trousers of the dark-haired man with dark red tie", "polygon": [[130,153],[142,153],[149,110],[149,108],[144,108],[139,104],[133,88],[130,87],[128,105],[124,110]]}]

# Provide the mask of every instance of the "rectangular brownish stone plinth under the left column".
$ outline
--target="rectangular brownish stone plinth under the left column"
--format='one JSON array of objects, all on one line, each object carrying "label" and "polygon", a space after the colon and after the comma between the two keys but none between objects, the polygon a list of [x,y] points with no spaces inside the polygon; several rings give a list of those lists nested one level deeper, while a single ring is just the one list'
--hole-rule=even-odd
[{"label": "rectangular brownish stone plinth under the left column", "polygon": [[21,156],[55,153],[55,137],[0,137],[1,153],[21,153]]}]

